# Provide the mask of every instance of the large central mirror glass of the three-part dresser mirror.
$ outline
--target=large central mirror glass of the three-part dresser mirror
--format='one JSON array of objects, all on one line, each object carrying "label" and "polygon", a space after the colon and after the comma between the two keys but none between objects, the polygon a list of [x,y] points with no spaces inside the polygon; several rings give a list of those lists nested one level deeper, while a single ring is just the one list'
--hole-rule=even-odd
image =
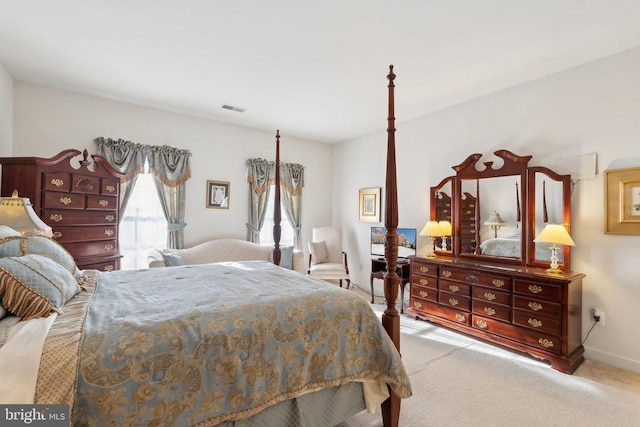
[{"label": "large central mirror glass of the three-part dresser mirror", "polygon": [[461,253],[522,258],[520,176],[461,181]]}]

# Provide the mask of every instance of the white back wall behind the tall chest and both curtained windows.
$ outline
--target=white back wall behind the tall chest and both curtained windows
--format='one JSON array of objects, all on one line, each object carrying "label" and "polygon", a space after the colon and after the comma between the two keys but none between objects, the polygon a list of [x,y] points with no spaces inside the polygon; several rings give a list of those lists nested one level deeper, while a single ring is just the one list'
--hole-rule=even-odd
[{"label": "white back wall behind the tall chest and both curtained windows", "polygon": [[[212,237],[246,238],[246,161],[274,159],[277,125],[273,132],[263,132],[20,82],[15,84],[14,97],[12,156],[51,157],[68,148],[95,153],[93,140],[99,136],[189,149],[193,155],[185,244]],[[286,129],[280,129],[280,134],[281,160],[305,166],[302,240],[306,248],[311,227],[331,221],[326,195],[331,191],[332,147],[289,137]],[[208,179],[231,183],[228,210],[205,207]]]}]

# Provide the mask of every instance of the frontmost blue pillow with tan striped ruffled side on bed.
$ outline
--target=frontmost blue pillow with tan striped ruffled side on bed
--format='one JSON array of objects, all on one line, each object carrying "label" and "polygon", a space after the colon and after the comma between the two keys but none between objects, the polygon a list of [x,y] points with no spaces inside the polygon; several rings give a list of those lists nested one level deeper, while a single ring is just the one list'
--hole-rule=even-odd
[{"label": "frontmost blue pillow with tan striped ruffled side on bed", "polygon": [[2,305],[22,320],[47,317],[80,292],[62,265],[38,254],[0,258]]}]

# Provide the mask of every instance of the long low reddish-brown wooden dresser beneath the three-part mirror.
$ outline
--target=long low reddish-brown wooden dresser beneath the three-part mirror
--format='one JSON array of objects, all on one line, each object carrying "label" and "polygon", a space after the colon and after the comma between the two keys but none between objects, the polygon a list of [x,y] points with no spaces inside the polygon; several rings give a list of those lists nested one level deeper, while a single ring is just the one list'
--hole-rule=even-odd
[{"label": "long low reddish-brown wooden dresser beneath the three-part mirror", "polygon": [[410,257],[408,313],[573,373],[584,360],[582,278],[544,268]]}]

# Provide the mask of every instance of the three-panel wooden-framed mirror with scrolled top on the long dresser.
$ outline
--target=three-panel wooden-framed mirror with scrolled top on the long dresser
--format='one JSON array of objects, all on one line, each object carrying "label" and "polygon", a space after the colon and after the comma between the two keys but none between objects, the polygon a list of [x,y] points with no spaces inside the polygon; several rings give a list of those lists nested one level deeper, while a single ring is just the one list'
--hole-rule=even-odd
[{"label": "three-panel wooden-framed mirror with scrolled top on the long dresser", "polygon": [[[546,224],[570,225],[569,175],[545,167],[528,167],[532,156],[507,150],[496,159],[480,162],[472,154],[453,166],[455,176],[431,188],[431,220],[450,218],[453,245],[436,253],[520,265],[548,266],[551,249],[533,239]],[[451,213],[445,209],[451,199]],[[561,268],[569,269],[568,246],[558,251]]]}]

